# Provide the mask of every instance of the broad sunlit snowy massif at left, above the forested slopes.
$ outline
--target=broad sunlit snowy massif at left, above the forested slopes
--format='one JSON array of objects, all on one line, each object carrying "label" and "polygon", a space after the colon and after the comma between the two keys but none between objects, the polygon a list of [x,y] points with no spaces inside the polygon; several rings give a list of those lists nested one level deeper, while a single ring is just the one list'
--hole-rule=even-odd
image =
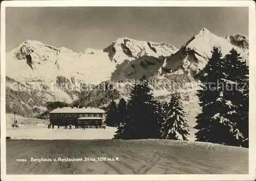
[{"label": "broad sunlit snowy massif at left, above the forested slopes", "polygon": [[[7,54],[6,60],[6,75],[20,82],[40,79],[49,83],[55,82],[57,76],[69,79],[75,76],[88,83],[101,82],[108,79],[114,69],[115,64],[108,60],[108,55],[103,51],[94,56],[79,56],[68,48],[58,49],[37,41],[23,42]],[[100,75],[97,71],[101,71]]]}]

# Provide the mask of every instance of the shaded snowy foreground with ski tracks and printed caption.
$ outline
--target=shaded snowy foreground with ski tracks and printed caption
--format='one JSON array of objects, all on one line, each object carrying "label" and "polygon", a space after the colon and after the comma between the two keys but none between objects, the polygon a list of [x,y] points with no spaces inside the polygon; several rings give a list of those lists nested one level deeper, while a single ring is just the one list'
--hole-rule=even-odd
[{"label": "shaded snowy foreground with ski tracks and printed caption", "polygon": [[210,143],[7,140],[6,147],[7,174],[248,174],[247,148]]}]

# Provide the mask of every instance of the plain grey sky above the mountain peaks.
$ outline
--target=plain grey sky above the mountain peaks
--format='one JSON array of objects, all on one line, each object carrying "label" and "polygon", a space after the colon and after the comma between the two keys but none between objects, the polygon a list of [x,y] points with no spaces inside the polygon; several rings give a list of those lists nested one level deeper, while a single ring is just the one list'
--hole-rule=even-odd
[{"label": "plain grey sky above the mountain peaks", "polygon": [[7,7],[6,50],[37,40],[79,53],[121,37],[180,48],[202,28],[248,36],[246,7]]}]

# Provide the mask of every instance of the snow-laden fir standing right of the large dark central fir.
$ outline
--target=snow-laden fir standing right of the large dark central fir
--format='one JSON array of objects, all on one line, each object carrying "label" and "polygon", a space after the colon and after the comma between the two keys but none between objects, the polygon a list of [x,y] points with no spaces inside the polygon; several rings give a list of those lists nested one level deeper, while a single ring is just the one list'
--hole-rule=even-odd
[{"label": "snow-laden fir standing right of the large dark central fir", "polygon": [[170,140],[187,140],[189,125],[185,116],[181,96],[174,93],[168,105],[167,118],[162,127],[162,138]]}]

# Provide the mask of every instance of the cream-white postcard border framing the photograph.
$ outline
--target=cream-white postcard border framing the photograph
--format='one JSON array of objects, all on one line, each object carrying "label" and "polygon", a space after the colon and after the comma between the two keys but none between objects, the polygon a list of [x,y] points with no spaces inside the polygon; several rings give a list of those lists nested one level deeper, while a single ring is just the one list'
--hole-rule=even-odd
[{"label": "cream-white postcard border framing the photograph", "polygon": [[[5,9],[6,7],[248,7],[249,8],[249,174],[172,175],[6,175]],[[254,180],[256,172],[256,41],[253,1],[4,1],[1,3],[1,179],[2,180]]]}]

